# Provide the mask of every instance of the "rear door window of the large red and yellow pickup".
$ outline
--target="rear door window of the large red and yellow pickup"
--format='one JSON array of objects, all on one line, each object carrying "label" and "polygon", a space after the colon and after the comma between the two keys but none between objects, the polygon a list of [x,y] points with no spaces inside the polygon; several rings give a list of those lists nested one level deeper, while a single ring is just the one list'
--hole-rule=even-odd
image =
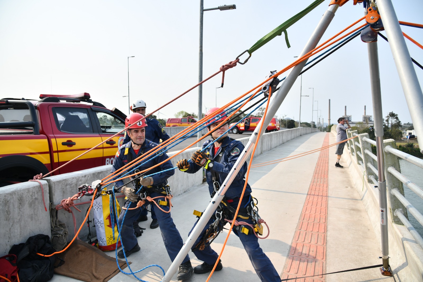
[{"label": "rear door window of the large red and yellow pickup", "polygon": [[54,108],[56,126],[67,133],[93,133],[88,109]]}]

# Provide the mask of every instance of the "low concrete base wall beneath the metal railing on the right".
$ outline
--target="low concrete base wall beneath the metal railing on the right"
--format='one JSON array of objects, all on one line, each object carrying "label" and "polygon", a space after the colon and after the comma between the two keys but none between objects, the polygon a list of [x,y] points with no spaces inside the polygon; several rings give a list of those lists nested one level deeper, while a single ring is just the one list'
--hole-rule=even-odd
[{"label": "low concrete base wall beneath the metal railing on the right", "polygon": [[[331,132],[336,136],[336,130],[331,130]],[[344,149],[342,159],[349,164],[348,169],[351,173],[354,187],[362,199],[363,205],[371,221],[373,231],[376,234],[379,244],[381,244],[379,190],[374,187],[375,185],[373,183],[367,182],[366,178],[363,177],[365,173],[364,169],[357,163],[349,149]],[[406,227],[394,224],[392,222],[391,213],[387,213],[387,215],[389,263],[393,273],[398,275],[397,277],[400,281],[423,282],[423,250],[418,243],[416,243]],[[382,253],[369,255],[376,257],[381,254]]]}]

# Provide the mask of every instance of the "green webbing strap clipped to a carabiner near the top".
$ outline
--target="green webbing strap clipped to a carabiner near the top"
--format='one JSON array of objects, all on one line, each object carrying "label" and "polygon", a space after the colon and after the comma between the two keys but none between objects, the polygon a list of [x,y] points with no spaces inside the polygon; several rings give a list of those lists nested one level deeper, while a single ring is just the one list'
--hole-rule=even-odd
[{"label": "green webbing strap clipped to a carabiner near the top", "polygon": [[270,33],[268,33],[262,39],[255,42],[255,44],[253,46],[251,46],[250,49],[248,49],[248,54],[251,55],[255,50],[257,50],[258,48],[260,48],[261,46],[263,46],[264,44],[266,44],[270,40],[274,39],[276,36],[282,35],[282,33],[285,33],[286,46],[288,46],[288,48],[291,47],[291,45],[289,45],[288,33],[286,33],[286,29],[289,28],[294,23],[296,23],[299,19],[304,17],[306,14],[308,14],[311,10],[313,10],[314,8],[319,6],[322,2],[324,2],[324,0],[314,1],[313,3],[310,4],[310,6],[308,6],[307,8],[305,8],[304,10],[302,10],[301,12],[296,14],[294,17],[291,17],[291,19],[288,19],[282,25],[280,25],[277,28],[275,28],[274,30],[272,30]]}]

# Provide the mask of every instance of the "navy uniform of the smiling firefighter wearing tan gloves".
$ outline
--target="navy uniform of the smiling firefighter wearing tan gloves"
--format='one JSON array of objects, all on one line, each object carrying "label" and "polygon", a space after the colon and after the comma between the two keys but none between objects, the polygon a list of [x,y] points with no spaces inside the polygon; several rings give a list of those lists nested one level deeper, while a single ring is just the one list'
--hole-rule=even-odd
[{"label": "navy uniform of the smiling firefighter wearing tan gloves", "polygon": [[[126,165],[128,163],[128,154],[132,155],[132,160],[135,160],[135,158],[139,157],[143,153],[148,152],[150,149],[153,149],[156,147],[157,144],[145,140],[144,143],[141,145],[140,150],[138,151],[138,154],[135,154],[134,149],[132,149],[132,142],[126,143],[117,153],[115,156],[115,161],[113,163],[112,171],[116,171],[120,169],[122,166]],[[156,156],[156,158],[153,158]],[[153,154],[150,157],[148,157],[146,160],[142,160],[139,164],[137,164],[135,167],[139,169],[140,171],[149,169],[150,167],[156,165],[157,163],[161,163],[162,161],[166,160],[168,158],[168,155],[163,153],[162,155],[156,155]],[[141,164],[141,165],[140,165]],[[134,167],[134,168],[135,168]],[[158,174],[155,174],[151,177],[153,177],[153,186],[157,188],[161,188],[166,184],[166,180],[172,176],[175,171],[169,170],[164,171],[166,169],[173,168],[172,163],[170,160],[167,162],[161,164],[160,166],[155,167],[154,169],[151,169],[150,171],[146,172],[147,175],[153,174],[156,172],[159,172]],[[160,172],[162,171],[162,172]],[[114,177],[114,179],[119,178],[119,176]],[[125,179],[127,182],[128,179]],[[123,180],[118,180],[115,182],[115,187],[119,187],[124,184]],[[164,196],[164,194],[157,193],[153,190],[150,191],[151,198],[157,197],[157,196]],[[138,200],[141,198],[139,197]],[[161,200],[164,200],[164,198],[159,198]],[[138,218],[138,216],[141,213],[141,209],[144,209],[147,205],[150,205],[152,202],[146,201],[146,203],[138,209],[135,210],[123,210],[122,213],[119,216],[118,224],[121,226],[122,221],[123,225],[121,227],[121,240],[125,247],[125,251],[131,250],[137,243],[137,237],[135,236],[135,231],[133,228],[133,222]],[[129,205],[130,204],[130,205]],[[135,207],[137,203],[131,202],[126,200],[124,207]],[[160,206],[163,210],[168,211],[170,207],[161,205]],[[126,214],[125,214],[126,212]],[[170,216],[170,213],[165,213],[162,210],[156,208],[155,209],[157,221],[159,222],[160,232],[162,233],[163,242],[165,243],[166,250],[168,252],[168,255],[170,257],[170,260],[174,260],[176,255],[179,253],[179,250],[183,246],[183,241],[181,238],[181,235],[179,234],[178,229],[176,229],[175,224],[173,223],[173,219]],[[125,219],[124,219],[125,217]],[[190,260],[188,255],[185,257],[183,263]]]}]

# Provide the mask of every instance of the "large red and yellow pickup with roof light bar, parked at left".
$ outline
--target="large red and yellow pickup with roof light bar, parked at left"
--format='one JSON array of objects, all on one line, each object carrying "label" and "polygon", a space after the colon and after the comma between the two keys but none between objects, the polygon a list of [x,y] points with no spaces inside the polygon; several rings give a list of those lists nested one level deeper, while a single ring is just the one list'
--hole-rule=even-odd
[{"label": "large red and yellow pickup with roof light bar, parked at left", "polygon": [[[40,99],[0,100],[0,187],[47,174],[125,127],[124,113],[108,110],[88,93]],[[118,138],[55,174],[113,164]]]}]

